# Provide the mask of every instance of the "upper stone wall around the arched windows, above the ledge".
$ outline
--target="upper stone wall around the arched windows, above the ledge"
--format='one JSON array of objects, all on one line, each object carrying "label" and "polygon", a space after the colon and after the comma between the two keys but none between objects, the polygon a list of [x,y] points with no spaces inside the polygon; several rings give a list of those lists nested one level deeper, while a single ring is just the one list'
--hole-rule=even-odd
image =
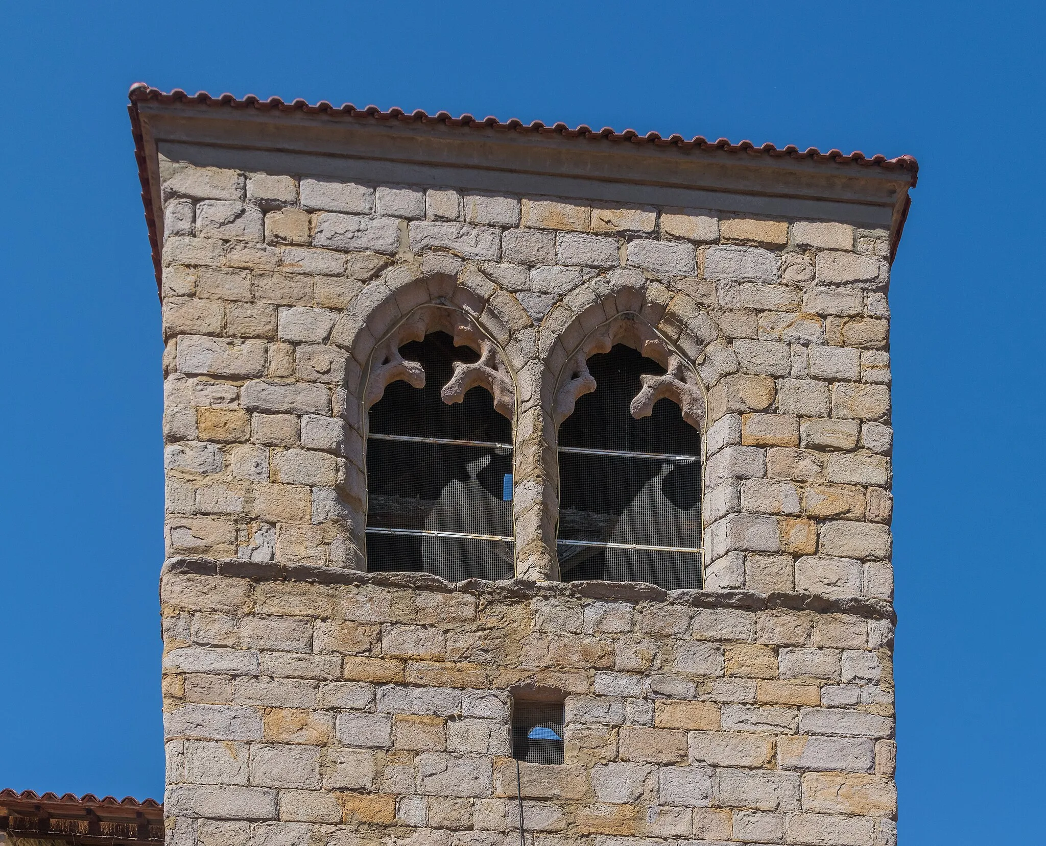
[{"label": "upper stone wall around the arched windows, above the ledge", "polygon": [[161,165],[168,555],[365,569],[371,356],[438,301],[513,382],[518,575],[564,366],[628,318],[706,398],[707,586],[892,595],[887,232]]}]

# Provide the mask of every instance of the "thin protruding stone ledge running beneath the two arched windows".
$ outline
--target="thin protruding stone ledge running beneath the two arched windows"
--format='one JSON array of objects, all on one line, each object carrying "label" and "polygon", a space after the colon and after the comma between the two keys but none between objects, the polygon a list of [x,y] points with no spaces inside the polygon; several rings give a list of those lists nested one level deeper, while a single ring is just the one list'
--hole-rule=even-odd
[{"label": "thin protruding stone ledge running beneath the two arched windows", "polygon": [[500,600],[571,597],[604,602],[665,603],[693,608],[733,608],[764,611],[783,608],[818,614],[851,614],[896,624],[893,606],[882,600],[859,596],[834,598],[814,593],[756,593],[751,590],[664,590],[635,582],[531,582],[506,579],[488,582],[467,579],[454,584],[428,572],[361,572],[313,564],[279,564],[240,559],[172,558],[161,575],[213,575],[255,582],[312,582],[321,585],[373,585],[374,587],[428,590],[436,593],[484,594]]}]

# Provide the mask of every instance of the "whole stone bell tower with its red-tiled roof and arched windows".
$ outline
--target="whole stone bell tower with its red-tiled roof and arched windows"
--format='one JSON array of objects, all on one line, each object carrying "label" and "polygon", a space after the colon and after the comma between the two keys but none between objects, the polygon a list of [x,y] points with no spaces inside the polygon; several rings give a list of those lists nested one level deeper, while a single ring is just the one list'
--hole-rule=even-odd
[{"label": "whole stone bell tower with its red-tiled roof and arched windows", "polygon": [[131,90],[172,846],[891,846],[916,164]]}]

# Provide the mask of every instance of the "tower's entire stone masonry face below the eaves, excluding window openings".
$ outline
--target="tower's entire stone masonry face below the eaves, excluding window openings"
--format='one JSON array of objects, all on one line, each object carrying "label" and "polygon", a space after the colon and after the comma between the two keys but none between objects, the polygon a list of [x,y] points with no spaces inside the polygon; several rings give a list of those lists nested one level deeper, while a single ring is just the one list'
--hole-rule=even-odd
[{"label": "tower's entire stone masonry face below the eaves, excluding window openings", "polygon": [[[516,688],[566,696],[526,846],[895,844],[887,231],[160,174],[170,846],[513,846]],[[366,573],[376,350],[440,309],[514,406],[518,580]],[[555,581],[598,337],[703,408],[705,592]]]}]

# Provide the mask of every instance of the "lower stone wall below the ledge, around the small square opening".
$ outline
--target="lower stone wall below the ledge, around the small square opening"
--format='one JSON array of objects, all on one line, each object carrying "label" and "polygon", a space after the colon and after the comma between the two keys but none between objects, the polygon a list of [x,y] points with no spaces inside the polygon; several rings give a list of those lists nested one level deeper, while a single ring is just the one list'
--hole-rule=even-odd
[{"label": "lower stone wall below the ledge, around the small square opening", "polygon": [[527,846],[895,843],[885,604],[294,569],[168,565],[172,846],[513,846],[514,686]]}]

